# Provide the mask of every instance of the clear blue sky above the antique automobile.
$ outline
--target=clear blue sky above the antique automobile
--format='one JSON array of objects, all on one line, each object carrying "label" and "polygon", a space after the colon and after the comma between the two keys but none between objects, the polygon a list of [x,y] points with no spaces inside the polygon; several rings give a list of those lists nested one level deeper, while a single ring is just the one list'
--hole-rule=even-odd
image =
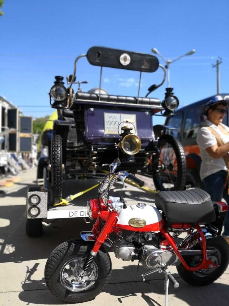
[{"label": "clear blue sky above the antique automobile", "polygon": [[[182,106],[216,93],[212,64],[220,56],[220,92],[229,92],[228,0],[5,0],[2,10],[0,95],[24,115],[52,114],[48,92],[54,76],[66,78],[75,58],[92,46],[149,54],[155,47],[171,60],[195,49],[170,66],[171,87]],[[109,94],[136,96],[138,77],[106,68],[102,87]],[[161,78],[161,70],[144,73],[140,95]],[[84,58],[77,80],[88,81],[84,91],[98,87],[99,69]],[[150,97],[163,99],[166,86]]]}]

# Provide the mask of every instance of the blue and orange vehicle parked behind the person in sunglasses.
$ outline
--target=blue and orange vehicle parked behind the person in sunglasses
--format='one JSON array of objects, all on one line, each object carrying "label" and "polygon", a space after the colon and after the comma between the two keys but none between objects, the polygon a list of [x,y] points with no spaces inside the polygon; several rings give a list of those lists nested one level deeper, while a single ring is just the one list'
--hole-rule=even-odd
[{"label": "blue and orange vehicle parked behind the person in sunglasses", "polygon": [[[220,95],[224,99],[229,97],[229,94]],[[166,127],[163,128],[162,134],[176,137],[180,140],[180,143],[184,148],[187,164],[186,188],[199,187],[204,189],[204,184],[199,175],[201,156],[198,144],[196,142],[196,137],[198,130],[204,125],[204,105],[213,97],[214,96],[211,96],[181,107],[175,110],[174,114],[172,116],[168,116],[165,120]],[[229,125],[228,112],[224,117],[223,123],[225,125]]]}]

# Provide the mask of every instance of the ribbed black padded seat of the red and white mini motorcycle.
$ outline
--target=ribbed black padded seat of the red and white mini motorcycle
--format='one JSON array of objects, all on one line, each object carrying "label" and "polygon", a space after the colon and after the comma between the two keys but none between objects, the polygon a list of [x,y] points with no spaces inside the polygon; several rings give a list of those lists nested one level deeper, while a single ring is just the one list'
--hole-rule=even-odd
[{"label": "ribbed black padded seat of the red and white mini motorcycle", "polygon": [[209,223],[216,219],[210,195],[200,188],[158,191],[155,205],[171,223]]}]

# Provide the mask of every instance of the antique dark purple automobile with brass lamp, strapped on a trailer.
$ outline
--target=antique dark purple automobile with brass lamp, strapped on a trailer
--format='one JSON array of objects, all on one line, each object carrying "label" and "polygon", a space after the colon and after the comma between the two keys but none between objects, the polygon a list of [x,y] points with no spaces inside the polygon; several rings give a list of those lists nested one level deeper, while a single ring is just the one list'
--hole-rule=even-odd
[{"label": "antique dark purple automobile with brass lamp, strapped on a trailer", "polygon": [[[100,67],[97,91],[77,91],[76,66],[86,57],[89,64]],[[138,95],[110,95],[101,88],[103,67],[140,72]],[[140,97],[142,73],[163,71],[163,80],[152,85],[146,97]],[[64,86],[62,76],[56,76],[50,89],[50,104],[57,109],[53,123],[51,156],[47,171],[52,187],[52,203],[62,198],[62,180],[103,171],[104,164],[121,160],[118,170],[151,175],[160,190],[183,189],[186,163],[183,148],[171,135],[158,139],[153,129],[155,114],[167,116],[178,107],[173,92],[165,92],[163,101],[148,95],[165,81],[165,69],[150,54],[106,47],[91,47],[78,56],[73,74]]]}]

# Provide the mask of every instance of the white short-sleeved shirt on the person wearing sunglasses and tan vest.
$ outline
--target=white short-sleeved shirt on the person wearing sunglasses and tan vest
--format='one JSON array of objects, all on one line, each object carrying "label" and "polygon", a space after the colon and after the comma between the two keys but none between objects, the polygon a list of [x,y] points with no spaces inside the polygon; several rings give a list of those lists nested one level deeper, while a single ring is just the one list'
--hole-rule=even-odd
[{"label": "white short-sleeved shirt on the person wearing sunglasses and tan vest", "polygon": [[[216,125],[214,125],[211,121],[206,120],[205,125],[212,127],[220,135],[224,144],[226,144],[229,141],[229,135],[227,136],[224,133],[222,133],[220,129]],[[229,133],[229,128],[222,123],[221,125]],[[216,173],[220,170],[227,171],[227,167],[225,165],[223,157],[215,159],[211,157],[205,150],[206,148],[211,147],[214,144],[217,144],[216,137],[212,134],[212,132],[207,127],[202,127],[201,129],[199,129],[196,140],[200,147],[200,154],[201,154],[201,159],[202,159],[202,163],[200,167],[201,179],[209,176],[210,174]]]}]

